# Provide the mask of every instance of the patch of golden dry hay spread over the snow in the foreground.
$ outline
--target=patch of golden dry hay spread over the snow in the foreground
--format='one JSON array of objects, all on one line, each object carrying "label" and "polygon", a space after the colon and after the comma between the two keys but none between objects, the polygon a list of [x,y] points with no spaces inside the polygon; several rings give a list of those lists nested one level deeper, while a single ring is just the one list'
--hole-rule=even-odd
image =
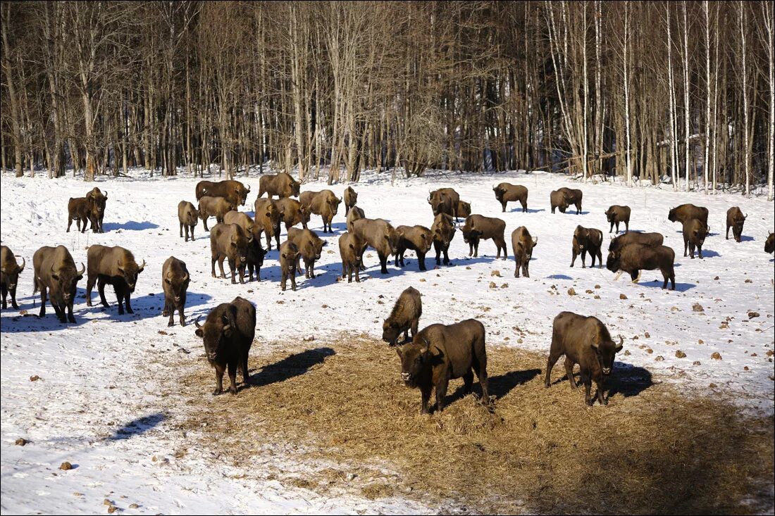
[{"label": "patch of golden dry hay spread over the snow in the foreground", "polygon": [[256,385],[236,397],[211,397],[213,373],[202,363],[184,378],[197,409],[186,425],[238,463],[267,442],[290,442],[305,445],[308,459],[345,465],[294,485],[354,486],[372,499],[409,497],[445,511],[771,510],[773,418],[653,384],[646,370],[618,369],[608,407],[587,408],[582,392],[560,381],[562,364],[547,390],[545,356],[493,347],[492,410],[460,397],[462,380],[453,380],[445,411],[422,416],[419,391],[401,384],[398,357],[383,342],[345,336],[308,347],[254,353]]}]

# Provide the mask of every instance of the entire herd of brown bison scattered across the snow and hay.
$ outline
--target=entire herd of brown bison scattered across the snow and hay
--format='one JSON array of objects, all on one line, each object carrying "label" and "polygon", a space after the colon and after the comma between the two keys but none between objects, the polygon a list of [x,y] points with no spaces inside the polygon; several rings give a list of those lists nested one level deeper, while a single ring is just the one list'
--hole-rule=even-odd
[{"label": "entire herd of brown bison scattered across the snow and hay", "polygon": [[[501,183],[493,187],[494,195],[506,211],[508,202],[519,202],[522,212],[528,212],[528,189],[518,184]],[[508,250],[505,240],[506,223],[501,218],[486,217],[471,212],[469,202],[460,199],[453,188],[439,188],[429,193],[427,201],[431,207],[433,222],[430,228],[423,225],[399,225],[394,228],[383,218],[367,218],[363,209],[357,206],[358,194],[347,187],[343,198],[337,198],[330,190],[301,192],[301,184],[289,174],[280,173],[260,177],[259,194],[255,203],[254,216],[239,212],[238,207],[246,204],[250,187],[239,181],[200,181],[196,185],[195,196],[198,205],[181,201],[177,205],[180,222],[180,236],[185,242],[194,240],[194,229],[198,220],[202,220],[205,231],[210,233],[211,271],[215,273],[215,263],[219,266],[219,277],[226,278],[224,261],[229,265],[229,279],[232,284],[260,281],[260,268],[263,266],[267,250],[261,246],[261,239],[272,249],[272,240],[279,251],[278,261],[281,268],[281,289],[286,289],[291,280],[291,289],[296,290],[296,276],[301,273],[304,264],[305,277],[315,278],[315,263],[320,260],[325,241],[307,225],[311,215],[319,215],[323,222],[323,232],[333,232],[332,220],[337,215],[339,204],[344,202],[346,232],[339,236],[339,255],[342,262],[341,280],[350,283],[355,273],[356,282],[360,281],[360,271],[364,270],[363,253],[371,247],[377,253],[381,273],[386,274],[387,260],[394,256],[396,267],[405,266],[405,252],[412,250],[418,258],[419,270],[426,270],[425,256],[434,249],[436,267],[449,265],[449,244],[460,229],[463,240],[469,246],[468,256],[478,256],[482,240],[491,239],[496,247],[496,258],[506,260]],[[267,198],[263,198],[267,194]],[[277,200],[274,200],[277,196]],[[298,201],[291,197],[297,197]],[[95,187],[83,198],[71,198],[67,204],[67,231],[75,221],[81,232],[90,223],[93,232],[103,232],[102,220],[105,215],[107,192]],[[580,190],[560,188],[549,195],[551,212],[559,208],[565,213],[570,205],[581,213],[583,193]],[[629,222],[632,210],[629,206],[611,205],[605,211],[609,232],[616,229],[617,236],[608,246],[606,267],[614,273],[629,273],[634,282],[639,280],[642,270],[660,270],[663,275],[663,288],[670,283],[675,289],[673,249],[663,245],[660,233],[630,232]],[[216,224],[208,229],[208,218],[215,217]],[[463,218],[462,225],[460,218]],[[702,258],[704,240],[708,237],[708,209],[691,204],[670,209],[667,218],[670,222],[680,222],[684,235],[684,256],[694,259],[695,249]],[[741,241],[742,228],[746,220],[738,207],[730,208],[726,217],[726,238],[729,229],[736,242]],[[287,239],[281,243],[280,227],[284,223]],[[624,232],[618,235],[620,224]],[[301,229],[294,227],[301,225]],[[532,236],[524,226],[512,232],[512,252],[515,259],[515,277],[529,277],[529,264],[538,237]],[[586,267],[586,256],[591,257],[591,267],[595,261],[602,267],[603,232],[600,229],[585,228],[578,225],[571,239],[574,267],[578,256],[581,267]],[[770,233],[766,239],[766,253],[775,250],[775,235]],[[443,259],[442,259],[443,255]],[[33,294],[40,291],[40,317],[46,315],[46,304],[51,306],[60,322],[75,322],[73,302],[77,282],[87,274],[86,301],[91,306],[91,291],[98,288],[100,301],[108,307],[105,299],[105,285],[112,285],[118,301],[119,315],[126,311],[133,313],[130,304],[131,294],[135,291],[145,261],[138,264],[128,249],[119,246],[107,247],[92,245],[88,248],[86,265],[81,268],[70,251],[64,246],[43,246],[33,255]],[[7,308],[6,298],[11,294],[13,308],[16,304],[16,287],[19,274],[26,266],[22,258],[19,265],[9,247],[2,246],[2,308]],[[185,325],[184,309],[186,293],[191,276],[186,264],[170,256],[162,267],[162,287],[164,290],[164,311],[169,317],[168,325],[174,325],[174,312],[177,311],[180,325]],[[67,312],[67,313],[66,313]],[[396,301],[391,314],[383,324],[383,339],[395,346],[401,359],[401,379],[408,387],[417,387],[422,394],[422,413],[429,412],[429,400],[432,390],[436,389],[436,408],[443,410],[449,380],[463,378],[464,387],[470,392],[474,373],[480,382],[482,401],[489,402],[487,395],[487,353],[485,349],[484,325],[475,319],[468,319],[453,325],[429,325],[420,330],[419,318],[422,315],[421,294],[412,287],[403,291]],[[235,298],[230,303],[219,304],[209,312],[205,323],[196,322],[196,335],[202,338],[209,363],[215,368],[216,387],[214,394],[222,392],[223,373],[229,372],[229,391],[236,394],[236,371],[243,371],[243,380],[249,383],[247,374],[247,356],[253,342],[256,326],[256,308],[250,301]],[[411,338],[410,338],[411,332]],[[402,342],[398,342],[403,334]],[[580,379],[586,389],[586,402],[593,404],[597,399],[607,404],[604,396],[605,379],[611,373],[615,354],[622,349],[622,339],[615,342],[608,329],[594,317],[584,317],[563,311],[553,322],[552,342],[549,359],[546,363],[546,387],[554,364],[560,356],[565,356],[565,368],[570,385],[577,387],[573,375],[574,365],[580,367]],[[591,396],[591,382],[598,386],[595,397]]]}]

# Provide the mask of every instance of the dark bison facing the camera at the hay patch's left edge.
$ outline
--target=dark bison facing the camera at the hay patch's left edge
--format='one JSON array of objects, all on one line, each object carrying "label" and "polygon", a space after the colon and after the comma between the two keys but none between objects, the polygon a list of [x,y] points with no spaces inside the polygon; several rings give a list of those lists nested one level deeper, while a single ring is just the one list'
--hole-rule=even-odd
[{"label": "dark bison facing the camera at the hay patch's left edge", "polygon": [[214,396],[223,392],[223,373],[229,369],[229,392],[237,394],[237,369],[243,372],[243,384],[250,384],[247,356],[256,335],[256,307],[243,298],[222,303],[210,311],[205,324],[196,322],[196,335],[205,342],[205,353],[215,368]]}]

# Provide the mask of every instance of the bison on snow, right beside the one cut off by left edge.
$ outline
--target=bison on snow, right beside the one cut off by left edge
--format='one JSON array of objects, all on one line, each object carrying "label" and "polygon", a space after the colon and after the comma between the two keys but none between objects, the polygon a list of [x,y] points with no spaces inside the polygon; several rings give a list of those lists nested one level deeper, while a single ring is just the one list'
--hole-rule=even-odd
[{"label": "bison on snow, right beside the one cut off by left edge", "polygon": [[[78,281],[84,277],[86,267],[76,270],[70,251],[65,246],[43,246],[33,254],[33,295],[40,291],[40,314],[46,315],[46,298],[60,322],[75,322],[73,301]],[[64,312],[67,311],[67,318]]]}]

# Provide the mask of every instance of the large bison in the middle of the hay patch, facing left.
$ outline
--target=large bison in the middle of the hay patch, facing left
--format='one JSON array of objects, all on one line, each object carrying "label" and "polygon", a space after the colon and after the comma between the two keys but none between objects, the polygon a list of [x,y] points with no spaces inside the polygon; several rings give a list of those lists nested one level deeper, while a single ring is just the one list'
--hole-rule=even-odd
[{"label": "large bison in the middle of the hay patch, facing left", "polygon": [[444,410],[444,397],[449,380],[463,378],[463,392],[471,392],[474,372],[479,377],[482,402],[489,404],[487,392],[487,350],[484,347],[484,325],[466,319],[453,325],[430,325],[415,334],[411,344],[398,346],[401,357],[401,380],[407,387],[419,387],[422,414],[428,414],[428,401],[436,387],[436,408]]}]

